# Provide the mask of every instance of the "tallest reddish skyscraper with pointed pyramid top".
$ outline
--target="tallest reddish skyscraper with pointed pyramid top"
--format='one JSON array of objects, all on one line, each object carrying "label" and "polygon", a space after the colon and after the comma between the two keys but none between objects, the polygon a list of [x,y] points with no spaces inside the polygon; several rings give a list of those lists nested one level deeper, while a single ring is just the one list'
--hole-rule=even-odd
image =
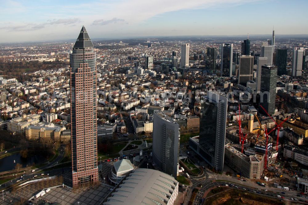
[{"label": "tallest reddish skyscraper with pointed pyramid top", "polygon": [[73,187],[98,181],[96,53],[83,26],[70,55]]}]

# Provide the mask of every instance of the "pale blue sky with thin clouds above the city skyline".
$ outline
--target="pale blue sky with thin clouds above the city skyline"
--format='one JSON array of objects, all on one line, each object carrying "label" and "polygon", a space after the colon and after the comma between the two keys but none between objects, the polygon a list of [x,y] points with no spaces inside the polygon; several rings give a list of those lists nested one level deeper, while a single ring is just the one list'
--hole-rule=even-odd
[{"label": "pale blue sky with thin clouds above the city skyline", "polygon": [[308,34],[307,0],[0,0],[0,42]]}]

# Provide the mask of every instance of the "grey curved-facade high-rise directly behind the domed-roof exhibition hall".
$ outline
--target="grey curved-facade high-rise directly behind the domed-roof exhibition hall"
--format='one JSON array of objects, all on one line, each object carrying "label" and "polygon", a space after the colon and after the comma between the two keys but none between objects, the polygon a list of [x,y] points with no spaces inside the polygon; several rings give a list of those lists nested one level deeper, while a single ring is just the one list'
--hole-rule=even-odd
[{"label": "grey curved-facade high-rise directly behind the domed-roof exhibition hall", "polygon": [[162,111],[154,111],[153,115],[153,162],[160,171],[176,178],[179,173],[179,124]]}]

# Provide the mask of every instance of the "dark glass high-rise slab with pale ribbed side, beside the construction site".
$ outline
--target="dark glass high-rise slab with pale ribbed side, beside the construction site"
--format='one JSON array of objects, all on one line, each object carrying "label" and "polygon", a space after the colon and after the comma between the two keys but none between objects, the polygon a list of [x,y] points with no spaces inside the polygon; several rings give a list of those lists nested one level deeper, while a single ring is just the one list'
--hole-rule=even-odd
[{"label": "dark glass high-rise slab with pale ribbed side, beside the construction site", "polygon": [[201,105],[198,154],[219,171],[224,166],[227,105],[227,96],[217,91],[208,91]]}]

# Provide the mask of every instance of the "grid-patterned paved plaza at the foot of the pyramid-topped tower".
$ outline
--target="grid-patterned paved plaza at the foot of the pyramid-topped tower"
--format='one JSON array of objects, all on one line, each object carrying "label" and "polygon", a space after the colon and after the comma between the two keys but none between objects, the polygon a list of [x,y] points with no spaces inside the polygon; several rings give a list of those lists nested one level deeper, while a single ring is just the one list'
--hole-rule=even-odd
[{"label": "grid-patterned paved plaza at the foot of the pyramid-topped tower", "polygon": [[[101,203],[110,192],[110,188],[113,188],[113,186],[107,184],[107,176],[111,171],[112,163],[103,162],[102,165],[103,168],[102,172],[99,173],[99,183],[97,185],[93,185],[92,187],[79,187],[78,189],[74,190],[67,187],[55,187],[38,199],[48,200],[49,203],[58,202],[61,204],[63,203],[76,205],[94,205]],[[67,177],[71,177],[71,174],[68,172],[64,173],[63,175],[63,178]],[[106,178],[105,184],[103,177]],[[64,181],[67,180],[64,179]],[[41,190],[42,189],[37,188],[36,184],[30,184],[17,190],[15,193],[4,192],[4,201],[1,200],[0,204],[17,204],[20,202],[26,202]],[[35,199],[35,201],[38,199]]]}]

